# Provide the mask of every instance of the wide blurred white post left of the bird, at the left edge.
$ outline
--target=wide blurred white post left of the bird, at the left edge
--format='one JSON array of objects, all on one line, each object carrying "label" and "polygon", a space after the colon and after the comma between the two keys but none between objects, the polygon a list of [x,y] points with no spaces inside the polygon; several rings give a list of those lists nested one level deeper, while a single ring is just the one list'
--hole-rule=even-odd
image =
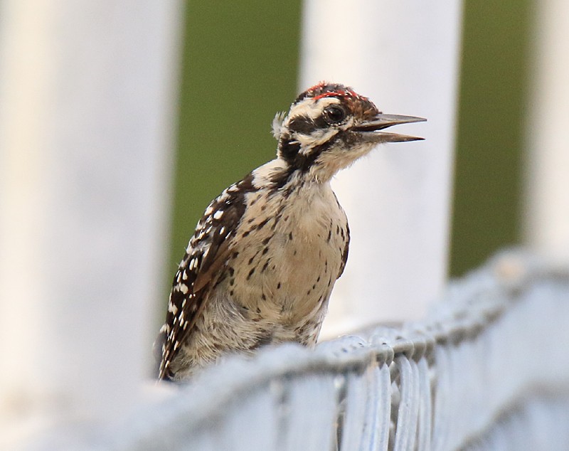
[{"label": "wide blurred white post left of the bird, at the left edge", "polygon": [[0,4],[3,449],[68,421],[112,418],[148,371],[177,6]]}]

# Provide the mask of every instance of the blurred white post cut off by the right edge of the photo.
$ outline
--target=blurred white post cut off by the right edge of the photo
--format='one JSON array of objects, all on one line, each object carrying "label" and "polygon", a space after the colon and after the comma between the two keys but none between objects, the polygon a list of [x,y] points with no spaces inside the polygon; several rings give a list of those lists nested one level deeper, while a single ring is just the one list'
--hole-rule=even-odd
[{"label": "blurred white post cut off by the right edge of the photo", "polygon": [[526,240],[569,261],[569,4],[536,3],[533,92],[528,111]]}]

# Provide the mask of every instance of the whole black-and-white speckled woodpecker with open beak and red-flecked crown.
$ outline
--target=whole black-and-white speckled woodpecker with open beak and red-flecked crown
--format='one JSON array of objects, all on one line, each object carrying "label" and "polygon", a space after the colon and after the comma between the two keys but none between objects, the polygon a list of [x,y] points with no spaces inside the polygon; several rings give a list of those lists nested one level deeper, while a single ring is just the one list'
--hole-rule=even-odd
[{"label": "whole black-and-white speckled woodpecker with open beak and red-flecked crown", "polygon": [[422,139],[383,130],[424,120],[384,115],[331,83],[277,114],[276,158],[214,199],[186,248],[156,341],[158,378],[183,381],[267,344],[314,346],[350,240],[330,179],[376,144]]}]

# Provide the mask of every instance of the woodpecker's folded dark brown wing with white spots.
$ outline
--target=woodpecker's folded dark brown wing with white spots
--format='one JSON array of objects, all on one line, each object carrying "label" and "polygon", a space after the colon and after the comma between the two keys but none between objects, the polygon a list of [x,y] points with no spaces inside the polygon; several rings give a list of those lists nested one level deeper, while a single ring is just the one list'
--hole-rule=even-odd
[{"label": "woodpecker's folded dark brown wing with white spots", "polygon": [[245,209],[243,181],[230,186],[210,203],[188,244],[174,276],[166,322],[160,329],[159,379],[169,378],[169,365],[191,334],[196,319],[228,260],[235,230]]}]

